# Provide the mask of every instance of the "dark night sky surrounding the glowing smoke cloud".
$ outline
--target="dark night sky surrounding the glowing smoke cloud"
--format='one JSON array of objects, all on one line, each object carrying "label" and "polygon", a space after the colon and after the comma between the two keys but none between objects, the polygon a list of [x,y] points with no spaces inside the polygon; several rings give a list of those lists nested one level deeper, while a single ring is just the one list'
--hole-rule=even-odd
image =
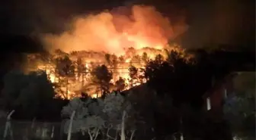
[{"label": "dark night sky surrounding the glowing smoke cloud", "polygon": [[186,48],[240,45],[255,39],[254,0],[4,0],[0,5],[0,34],[4,36],[1,40],[6,45],[7,39],[14,43],[12,36],[61,33],[64,23],[74,15],[133,3],[155,5],[171,19],[185,14],[190,28],[181,39]]}]

